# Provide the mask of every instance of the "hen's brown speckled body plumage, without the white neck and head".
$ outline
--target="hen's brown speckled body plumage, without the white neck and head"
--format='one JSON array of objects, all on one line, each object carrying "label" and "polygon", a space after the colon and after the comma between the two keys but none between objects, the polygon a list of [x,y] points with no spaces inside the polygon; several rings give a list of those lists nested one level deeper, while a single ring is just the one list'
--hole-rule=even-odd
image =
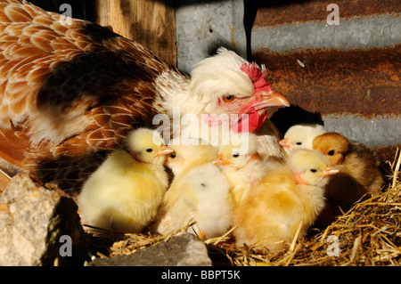
[{"label": "hen's brown speckled body plumage, without the white neck and head", "polygon": [[[21,165],[69,191],[135,126],[151,122],[166,61],[89,21],[0,0],[0,127],[30,139]],[[6,131],[3,130],[5,135]]]}]

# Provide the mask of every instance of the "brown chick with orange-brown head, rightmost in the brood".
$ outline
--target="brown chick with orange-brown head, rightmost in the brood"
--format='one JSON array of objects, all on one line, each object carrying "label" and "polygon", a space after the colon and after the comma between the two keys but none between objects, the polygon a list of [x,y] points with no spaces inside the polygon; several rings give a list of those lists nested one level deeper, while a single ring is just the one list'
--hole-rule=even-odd
[{"label": "brown chick with orange-brown head, rightmost in the brood", "polygon": [[[340,173],[332,176],[325,187],[327,199],[315,226],[324,229],[337,215],[347,212],[359,199],[381,190],[383,178],[380,161],[374,152],[359,142],[350,142],[338,133],[315,138],[313,149],[321,151]],[[342,211],[342,212],[341,212]]]}]

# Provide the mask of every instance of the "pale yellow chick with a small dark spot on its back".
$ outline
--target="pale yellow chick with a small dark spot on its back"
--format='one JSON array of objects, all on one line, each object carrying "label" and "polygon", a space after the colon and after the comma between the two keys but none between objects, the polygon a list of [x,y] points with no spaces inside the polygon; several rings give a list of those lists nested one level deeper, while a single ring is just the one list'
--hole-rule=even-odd
[{"label": "pale yellow chick with a small dark spot on its back", "polygon": [[201,145],[170,145],[174,150],[167,160],[175,174],[160,208],[156,231],[165,234],[184,228],[201,239],[223,235],[229,230],[232,201],[230,184],[220,169],[212,164],[217,148]]}]

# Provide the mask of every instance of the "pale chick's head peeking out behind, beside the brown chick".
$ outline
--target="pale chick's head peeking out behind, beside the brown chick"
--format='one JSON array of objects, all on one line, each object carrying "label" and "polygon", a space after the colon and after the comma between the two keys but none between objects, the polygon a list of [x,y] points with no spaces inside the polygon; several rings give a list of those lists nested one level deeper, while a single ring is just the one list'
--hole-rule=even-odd
[{"label": "pale chick's head peeking out behind, beside the brown chick", "polygon": [[315,137],[326,133],[321,125],[295,125],[291,126],[284,134],[279,144],[289,153],[292,149],[312,149]]}]

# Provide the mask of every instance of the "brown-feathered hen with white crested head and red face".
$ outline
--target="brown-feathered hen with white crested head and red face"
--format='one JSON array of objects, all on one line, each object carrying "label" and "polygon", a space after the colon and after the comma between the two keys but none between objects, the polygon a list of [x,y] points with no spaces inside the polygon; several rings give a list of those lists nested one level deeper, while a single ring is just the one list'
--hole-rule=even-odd
[{"label": "brown-feathered hen with white crested head and red face", "polygon": [[220,49],[189,77],[108,28],[0,0],[0,157],[76,193],[131,129],[173,107],[200,120],[235,114],[230,126],[257,130],[267,107],[289,105],[263,70]]}]

